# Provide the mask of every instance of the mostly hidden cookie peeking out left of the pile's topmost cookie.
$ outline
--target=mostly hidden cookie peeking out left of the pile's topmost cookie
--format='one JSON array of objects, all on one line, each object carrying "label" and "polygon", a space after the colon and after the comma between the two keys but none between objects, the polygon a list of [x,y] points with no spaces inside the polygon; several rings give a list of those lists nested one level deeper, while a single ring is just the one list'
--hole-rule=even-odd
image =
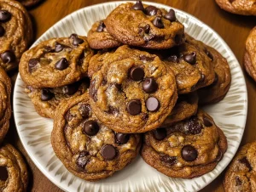
[{"label": "mostly hidden cookie peeking out left of the pile's topmost cookie", "polygon": [[108,33],[104,20],[97,21],[91,26],[88,32],[88,42],[90,48],[95,49],[116,48],[121,45],[120,42]]}]

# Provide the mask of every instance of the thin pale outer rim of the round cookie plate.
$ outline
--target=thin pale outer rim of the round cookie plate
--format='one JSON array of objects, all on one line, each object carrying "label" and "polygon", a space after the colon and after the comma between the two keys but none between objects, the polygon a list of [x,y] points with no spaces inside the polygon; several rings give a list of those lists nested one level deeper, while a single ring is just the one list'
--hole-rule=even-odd
[{"label": "thin pale outer rim of the round cookie plate", "polygon": [[[74,14],[78,14],[79,12],[84,11],[84,9],[91,9],[91,8],[93,9],[94,7],[98,7],[98,6],[100,6],[100,5],[108,5],[108,4],[113,4],[113,3],[128,3],[128,2],[134,3],[134,1],[111,1],[111,2],[106,2],[106,3],[96,3],[96,4],[93,4],[93,5],[90,5],[90,6],[86,6],[86,7],[84,7],[84,8],[79,8],[79,9],[73,11],[72,13],[67,14],[66,16],[64,16],[63,18],[61,18],[61,20],[57,21],[54,25],[51,25],[48,30],[44,31],[44,33],[43,33],[40,37],[38,37],[38,39],[37,39],[35,42],[33,42],[32,46],[31,46],[30,48],[33,48],[34,46],[36,46],[36,45],[38,44],[38,42],[41,42],[41,41],[42,41],[41,38],[44,37],[45,35],[47,35],[47,34],[49,33],[49,31],[52,31],[52,29],[53,29],[55,26],[61,25],[61,22],[63,22],[64,20],[67,20],[67,18],[71,17],[71,16],[74,15]],[[246,83],[245,76],[244,76],[244,72],[242,71],[240,62],[239,62],[238,59],[236,58],[236,55],[234,54],[234,52],[232,51],[232,49],[230,48],[230,46],[227,44],[227,42],[224,41],[224,39],[218,34],[218,32],[217,32],[217,31],[214,31],[211,26],[209,26],[209,25],[207,25],[206,23],[204,23],[203,21],[199,20],[199,19],[198,19],[197,17],[195,17],[194,15],[189,14],[189,13],[187,13],[187,12],[185,12],[185,11],[179,9],[179,8],[174,8],[174,7],[172,7],[172,6],[169,6],[169,5],[166,5],[166,4],[163,4],[163,3],[154,3],[154,2],[147,2],[147,1],[143,1],[143,3],[146,3],[146,4],[148,3],[148,4],[151,4],[151,5],[155,5],[155,6],[163,6],[163,7],[166,7],[166,8],[173,8],[174,10],[177,10],[177,11],[181,12],[182,14],[188,15],[189,18],[194,19],[194,20],[197,22],[198,25],[201,25],[201,26],[203,26],[204,28],[207,28],[207,30],[210,30],[210,31],[212,32],[213,37],[217,37],[217,38],[218,38],[218,41],[220,41],[222,44],[224,44],[225,49],[228,50],[228,52],[231,54],[230,56],[231,56],[233,59],[235,59],[235,62],[238,64],[237,67],[238,67],[239,70],[241,71],[241,76],[242,76],[242,79],[241,79],[240,81],[242,81],[242,83],[245,85],[245,90],[244,90],[245,92],[243,93],[244,95],[242,96],[242,101],[243,101],[242,105],[244,105],[244,111],[245,111],[245,114],[244,114],[244,115],[245,115],[245,118],[244,118],[244,121],[241,123],[241,125],[243,125],[243,126],[241,127],[241,132],[240,132],[241,137],[239,138],[239,141],[238,141],[237,144],[236,144],[236,150],[234,151],[233,157],[230,159],[230,162],[231,162],[231,161],[234,159],[234,156],[236,155],[236,152],[237,152],[237,150],[238,150],[239,147],[240,147],[241,139],[242,139],[242,137],[243,137],[244,130],[245,130],[245,128],[246,128],[246,123],[247,123],[247,106],[248,106],[247,83]],[[29,48],[29,49],[30,49],[30,48]],[[229,65],[230,65],[230,64],[229,64]],[[18,75],[17,75],[16,80],[17,80],[18,78],[20,78],[20,72],[18,72]],[[21,78],[20,78],[20,79],[21,79]],[[231,80],[231,81],[232,81],[232,80]],[[64,189],[64,188],[61,186],[61,184],[59,184],[59,182],[55,180],[54,177],[51,177],[51,175],[49,174],[49,172],[47,172],[46,170],[44,170],[44,167],[41,166],[41,164],[37,161],[37,159],[36,159],[35,157],[33,157],[33,155],[31,154],[31,152],[29,152],[29,150],[27,149],[26,144],[25,144],[25,140],[23,140],[23,139],[20,137],[19,126],[18,126],[18,123],[17,123],[17,120],[16,120],[16,118],[18,118],[18,117],[16,117],[16,112],[15,112],[15,109],[16,109],[15,105],[17,104],[17,103],[16,103],[17,100],[15,99],[15,98],[17,97],[17,96],[16,96],[16,94],[17,94],[17,89],[18,89],[17,81],[15,81],[15,86],[14,86],[14,91],[13,91],[13,97],[12,97],[12,98],[13,98],[13,113],[14,113],[15,127],[16,127],[17,133],[18,133],[18,135],[19,135],[20,142],[21,142],[22,146],[24,147],[24,149],[26,150],[26,154],[30,157],[30,159],[32,160],[32,162],[34,163],[34,165],[39,169],[39,171],[42,172],[42,173],[44,174],[44,176],[45,176],[46,178],[48,178],[51,183],[55,184],[56,187],[58,187],[58,188],[60,188],[60,189],[62,189],[62,190],[64,190],[64,191],[67,191],[67,189]],[[43,118],[44,118],[44,117],[43,117]],[[52,120],[52,121],[53,121],[53,120]],[[230,165],[230,162],[223,166],[222,171],[219,171],[219,172],[216,174],[216,176],[214,176],[214,177],[212,178],[211,182],[209,182],[208,184],[203,184],[202,187],[201,187],[201,189],[204,189],[207,185],[211,184],[213,180],[215,180],[216,178],[218,178],[218,176],[219,176],[222,172],[224,172],[224,169]]]}]

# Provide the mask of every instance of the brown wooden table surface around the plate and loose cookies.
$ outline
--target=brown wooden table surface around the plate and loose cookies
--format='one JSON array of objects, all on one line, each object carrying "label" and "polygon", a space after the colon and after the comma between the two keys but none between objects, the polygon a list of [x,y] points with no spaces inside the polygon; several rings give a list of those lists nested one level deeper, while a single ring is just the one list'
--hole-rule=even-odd
[{"label": "brown wooden table surface around the plate and loose cookies", "polygon": [[[32,15],[32,21],[35,28],[36,38],[40,37],[51,25],[54,25],[58,20],[61,20],[67,14],[73,11],[84,8],[96,3],[103,3],[103,0],[45,0],[38,7],[31,9],[29,12]],[[152,2],[164,3],[174,8],[179,8],[189,14],[195,15],[199,20],[202,20],[207,25],[210,25],[218,34],[224,38],[230,48],[236,54],[237,59],[242,65],[244,54],[244,43],[249,31],[256,25],[255,17],[240,16],[224,12],[214,0],[155,0]],[[243,66],[242,66],[243,68]],[[247,89],[248,89],[248,116],[247,126],[242,139],[242,144],[253,141],[256,138],[256,123],[254,121],[256,115],[256,83],[245,74]],[[13,76],[15,82],[15,75]],[[14,144],[26,157],[26,161],[30,166],[30,181],[29,191],[47,191],[60,192],[48,178],[45,178],[31,159],[26,154],[26,151],[20,143],[15,130],[14,119],[11,120],[11,127],[8,134],[9,142]],[[221,174],[212,184],[209,184],[206,189],[201,191],[224,191],[222,180],[224,174]]]}]

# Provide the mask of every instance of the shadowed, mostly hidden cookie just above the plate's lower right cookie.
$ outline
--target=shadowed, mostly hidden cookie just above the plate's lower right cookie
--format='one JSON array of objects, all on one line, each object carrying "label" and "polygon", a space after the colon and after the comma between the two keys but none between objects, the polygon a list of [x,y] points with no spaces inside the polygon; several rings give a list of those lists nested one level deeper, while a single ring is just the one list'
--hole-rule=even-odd
[{"label": "shadowed, mostly hidden cookie just above the plate's lower right cookie", "polygon": [[188,119],[190,116],[195,116],[198,108],[198,96],[196,92],[188,94],[180,94],[177,97],[171,114],[166,117],[163,126],[171,126],[178,121]]}]

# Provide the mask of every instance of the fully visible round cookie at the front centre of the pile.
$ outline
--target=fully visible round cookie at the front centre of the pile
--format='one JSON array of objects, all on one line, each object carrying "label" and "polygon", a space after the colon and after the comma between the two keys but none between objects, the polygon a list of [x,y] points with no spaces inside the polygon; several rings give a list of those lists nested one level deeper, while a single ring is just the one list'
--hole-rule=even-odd
[{"label": "fully visible round cookie at the front centre of the pile", "polygon": [[171,68],[126,45],[103,58],[90,82],[90,104],[99,120],[120,133],[159,127],[177,101]]}]

